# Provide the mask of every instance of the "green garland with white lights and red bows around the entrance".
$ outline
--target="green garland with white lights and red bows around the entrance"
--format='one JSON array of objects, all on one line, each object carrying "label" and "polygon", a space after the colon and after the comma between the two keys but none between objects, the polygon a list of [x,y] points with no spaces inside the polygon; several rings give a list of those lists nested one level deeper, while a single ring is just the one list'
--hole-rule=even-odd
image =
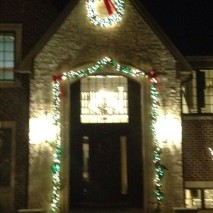
[{"label": "green garland with white lights and red bows around the entrance", "polygon": [[159,100],[158,100],[158,81],[156,72],[150,71],[148,73],[142,72],[137,69],[133,69],[127,66],[122,66],[117,63],[115,60],[104,57],[98,62],[96,62],[91,67],[78,70],[78,71],[70,71],[64,72],[63,74],[53,76],[53,106],[54,106],[54,124],[56,126],[57,137],[54,143],[55,151],[53,154],[53,166],[52,166],[52,179],[53,179],[53,192],[52,192],[52,203],[51,203],[51,210],[50,212],[59,212],[60,210],[60,189],[61,189],[61,182],[60,182],[60,171],[61,171],[61,119],[60,119],[60,99],[63,95],[63,91],[60,88],[60,82],[66,79],[77,79],[89,76],[100,71],[106,65],[111,65],[121,74],[127,74],[135,77],[145,77],[148,78],[151,83],[150,95],[152,98],[152,105],[151,105],[151,130],[153,136],[153,145],[154,145],[154,156],[153,162],[155,166],[155,178],[154,178],[154,196],[158,205],[164,199],[164,194],[162,191],[162,178],[164,176],[165,167],[161,164],[161,148],[159,146],[156,131],[155,131],[155,124],[158,117],[158,110],[159,110]]}]

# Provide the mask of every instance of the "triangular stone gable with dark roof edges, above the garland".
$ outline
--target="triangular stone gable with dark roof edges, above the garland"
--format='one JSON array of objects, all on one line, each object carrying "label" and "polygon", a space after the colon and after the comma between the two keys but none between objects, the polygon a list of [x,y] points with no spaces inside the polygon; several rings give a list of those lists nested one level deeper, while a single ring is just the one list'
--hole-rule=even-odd
[{"label": "triangular stone gable with dark roof edges, above the garland", "polygon": [[[55,68],[62,61],[70,63],[71,60],[79,65],[108,55],[133,66],[138,66],[138,60],[142,60],[141,64],[147,64],[148,69],[150,64],[156,64],[155,69],[158,66],[162,69],[162,64],[166,63],[167,69],[176,69],[179,64],[182,70],[190,70],[185,59],[156,27],[143,6],[135,2],[125,2],[121,21],[109,28],[101,28],[90,22],[85,1],[70,3],[21,66],[29,68],[38,53],[50,54],[49,48],[60,52],[59,57],[52,53],[56,58]],[[142,69],[146,70],[146,67]]]}]

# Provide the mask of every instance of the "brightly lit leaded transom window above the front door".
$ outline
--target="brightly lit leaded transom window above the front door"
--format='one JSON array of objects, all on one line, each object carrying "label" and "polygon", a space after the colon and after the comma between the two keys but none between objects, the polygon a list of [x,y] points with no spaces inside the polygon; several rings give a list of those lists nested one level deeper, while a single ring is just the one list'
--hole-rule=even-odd
[{"label": "brightly lit leaded transom window above the front door", "polygon": [[[117,80],[116,80],[117,79]],[[95,114],[89,108],[89,105],[92,103],[91,100],[98,100],[97,95],[99,94],[99,98],[104,97],[104,93],[116,93],[116,87],[123,87],[123,91],[121,92],[124,96],[122,101],[122,108],[124,109],[123,113],[120,111],[116,111],[115,113],[101,113]],[[100,91],[102,91],[102,95],[100,95]],[[93,92],[95,98],[91,99],[90,92]],[[114,74],[98,74],[91,75],[86,78],[80,79],[80,105],[81,105],[81,113],[80,113],[80,122],[82,124],[112,124],[119,123],[125,124],[129,123],[129,108],[128,108],[128,78],[123,75],[114,75]],[[86,98],[83,97],[83,93],[86,93]],[[118,91],[117,91],[118,95]],[[116,95],[115,95],[116,96]],[[88,98],[89,97],[89,98]],[[125,98],[126,97],[126,98]],[[88,100],[87,100],[88,98]],[[118,97],[117,97],[118,98]],[[83,102],[87,104],[82,104]],[[102,103],[103,100],[100,100]],[[115,97],[114,102],[118,101]],[[108,102],[108,101],[107,101]],[[97,104],[97,103],[96,103]],[[94,105],[96,105],[94,104]],[[118,105],[118,103],[117,103]],[[116,106],[117,106],[116,105]],[[108,106],[107,106],[108,107]],[[113,107],[113,106],[112,106]],[[84,113],[85,109],[87,113]],[[114,109],[114,108],[113,108]],[[89,112],[89,113],[88,113]],[[89,118],[90,116],[90,118]],[[122,117],[123,116],[123,117]],[[105,117],[105,119],[103,119]]]}]

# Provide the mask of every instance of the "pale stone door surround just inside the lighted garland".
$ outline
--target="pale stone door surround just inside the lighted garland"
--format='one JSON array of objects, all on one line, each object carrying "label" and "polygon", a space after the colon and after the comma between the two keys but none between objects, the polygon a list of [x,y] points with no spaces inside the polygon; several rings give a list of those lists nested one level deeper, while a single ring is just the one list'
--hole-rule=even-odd
[{"label": "pale stone door surround just inside the lighted garland", "polygon": [[[85,65],[87,67],[87,64]],[[112,71],[115,74],[118,74],[116,70]],[[104,71],[99,71],[99,73],[105,73]],[[144,210],[150,208],[150,202],[153,201],[153,157],[150,155],[150,153],[153,153],[153,147],[152,147],[152,135],[150,132],[150,108],[151,108],[151,97],[150,97],[150,83],[149,80],[146,78],[137,78],[134,76],[126,75],[128,78],[131,78],[135,81],[137,81],[141,85],[141,105],[142,103],[145,103],[141,106],[141,129],[143,127],[142,135],[143,138],[143,144],[142,144],[142,158],[143,158],[143,168],[146,168],[146,171],[143,172],[143,199],[141,198],[141,202],[143,203]],[[64,97],[61,100],[61,125],[63,126],[61,132],[61,146],[64,150],[63,158],[62,158],[62,174],[63,174],[63,188],[61,189],[61,209],[64,212],[69,213],[70,212],[70,203],[72,202],[70,200],[70,128],[72,128],[72,123],[70,123],[70,85],[74,83],[78,79],[69,79],[66,81],[63,81],[61,83],[61,86],[64,89],[64,93],[66,94],[66,97]],[[145,193],[144,193],[145,192]]]}]

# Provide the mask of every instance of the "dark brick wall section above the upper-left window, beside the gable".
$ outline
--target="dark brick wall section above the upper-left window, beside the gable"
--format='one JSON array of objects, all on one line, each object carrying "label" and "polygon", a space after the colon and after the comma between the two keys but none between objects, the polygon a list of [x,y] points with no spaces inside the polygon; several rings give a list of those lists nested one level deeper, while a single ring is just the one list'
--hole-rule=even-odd
[{"label": "dark brick wall section above the upper-left window, beside the gable", "polygon": [[23,24],[23,57],[41,38],[58,11],[50,0],[7,0],[0,1],[0,23]]}]

